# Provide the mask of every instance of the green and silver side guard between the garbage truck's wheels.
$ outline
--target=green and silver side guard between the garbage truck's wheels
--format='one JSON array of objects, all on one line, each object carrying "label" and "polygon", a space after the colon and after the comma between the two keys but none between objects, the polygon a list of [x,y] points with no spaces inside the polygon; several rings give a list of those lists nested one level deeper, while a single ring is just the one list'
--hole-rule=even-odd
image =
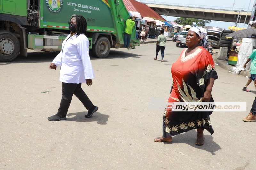
[{"label": "green and silver side guard between the garbage truck's wheels", "polygon": [[[61,51],[62,42],[66,36],[50,36],[50,35],[28,35],[28,49],[37,51]],[[92,38],[88,38],[92,48]]]}]

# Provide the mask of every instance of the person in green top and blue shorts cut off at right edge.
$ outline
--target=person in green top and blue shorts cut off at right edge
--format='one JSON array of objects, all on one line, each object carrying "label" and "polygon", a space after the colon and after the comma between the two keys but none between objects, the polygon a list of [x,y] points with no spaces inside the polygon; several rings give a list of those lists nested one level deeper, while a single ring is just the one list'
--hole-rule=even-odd
[{"label": "person in green top and blue shorts cut off at right edge", "polygon": [[[246,61],[245,64],[244,64],[244,68],[246,67],[246,64],[247,64],[250,60],[252,60],[251,66],[250,66],[250,68],[251,68],[251,70],[250,70],[251,76],[250,76],[250,78],[248,79],[247,83],[245,84],[245,86],[244,86],[243,89],[242,89],[243,91],[246,91],[246,92],[251,92],[251,90],[247,89],[247,86],[248,86],[252,81],[254,81],[255,78],[256,78],[256,49],[254,49],[254,50],[252,51],[252,54],[248,57],[247,61]],[[255,85],[255,84],[254,84],[254,85]],[[255,87],[256,87],[256,85],[255,85]]]}]

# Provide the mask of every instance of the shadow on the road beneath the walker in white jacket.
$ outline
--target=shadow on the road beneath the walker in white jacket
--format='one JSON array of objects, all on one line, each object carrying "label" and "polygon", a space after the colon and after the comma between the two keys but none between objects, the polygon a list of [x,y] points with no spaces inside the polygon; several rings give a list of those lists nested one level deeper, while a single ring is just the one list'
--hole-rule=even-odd
[{"label": "shadow on the road beneath the walker in white jacket", "polygon": [[[69,113],[66,115],[67,121],[75,121],[75,122],[97,122],[101,125],[106,125],[109,115],[101,114],[100,112],[95,112],[92,117],[86,118],[84,115],[87,115],[88,112],[77,112],[77,113]],[[75,115],[75,116],[74,116]]]}]

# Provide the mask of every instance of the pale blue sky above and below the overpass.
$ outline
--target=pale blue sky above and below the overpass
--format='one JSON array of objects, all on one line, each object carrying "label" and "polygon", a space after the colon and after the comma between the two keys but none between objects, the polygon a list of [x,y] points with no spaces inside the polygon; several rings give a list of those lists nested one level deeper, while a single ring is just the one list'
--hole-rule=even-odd
[{"label": "pale blue sky above and below the overpass", "polygon": [[[213,7],[228,7],[233,8],[235,10],[236,8],[243,8],[244,11],[252,9],[252,6],[254,5],[254,2],[256,0],[182,0],[182,1],[172,1],[171,0],[137,0],[139,2],[148,2],[148,3],[157,3],[157,2],[164,2],[164,3],[172,3],[177,5],[179,2],[180,4],[193,4],[193,5],[204,5],[204,6],[213,6]],[[250,2],[251,1],[251,2]],[[250,3],[250,4],[249,4]],[[234,6],[233,6],[234,4]],[[241,10],[241,9],[239,9]],[[178,17],[171,17],[171,16],[162,16],[163,18],[166,18],[167,21],[174,21]],[[228,29],[229,26],[234,26],[234,22],[222,22],[222,21],[213,21],[210,22],[210,24],[207,24],[208,26],[214,26],[219,27],[222,29]],[[248,23],[239,23],[239,27],[247,28]]]}]

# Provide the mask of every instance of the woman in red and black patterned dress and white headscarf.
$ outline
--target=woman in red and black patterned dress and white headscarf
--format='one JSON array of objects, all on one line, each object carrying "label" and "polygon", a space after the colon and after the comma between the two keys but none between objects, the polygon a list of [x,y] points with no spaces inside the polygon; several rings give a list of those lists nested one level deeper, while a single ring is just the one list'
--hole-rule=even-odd
[{"label": "woman in red and black patterned dress and white headscarf", "polygon": [[[206,30],[192,27],[187,34],[188,48],[181,52],[178,60],[172,64],[173,84],[168,102],[211,101],[214,80],[218,78],[212,55],[204,48]],[[202,47],[203,46],[203,47]],[[204,144],[203,130],[213,134],[209,115],[212,112],[176,112],[165,109],[163,118],[163,136],[155,142],[172,142],[172,136],[197,129],[196,145]]]}]

